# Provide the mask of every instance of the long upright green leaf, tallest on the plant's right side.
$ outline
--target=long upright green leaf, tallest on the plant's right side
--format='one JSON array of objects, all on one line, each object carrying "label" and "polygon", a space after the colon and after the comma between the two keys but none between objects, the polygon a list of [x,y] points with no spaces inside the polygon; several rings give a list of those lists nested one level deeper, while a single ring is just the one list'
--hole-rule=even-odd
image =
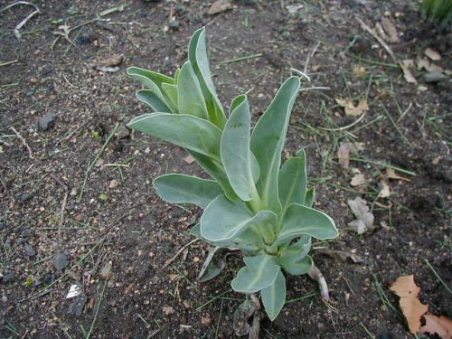
[{"label": "long upright green leaf, tallest on the plant's right side", "polygon": [[286,140],[290,112],[297,98],[300,80],[287,79],[278,90],[275,99],[251,135],[251,151],[259,162],[260,178],[257,184],[263,209],[279,214],[281,202],[278,199],[278,171],[281,165],[281,152]]}]

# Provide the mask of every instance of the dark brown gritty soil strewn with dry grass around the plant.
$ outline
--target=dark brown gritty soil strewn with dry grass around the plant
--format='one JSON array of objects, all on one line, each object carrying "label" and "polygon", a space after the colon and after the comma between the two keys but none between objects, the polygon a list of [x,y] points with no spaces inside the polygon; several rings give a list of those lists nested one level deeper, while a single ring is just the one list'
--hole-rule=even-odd
[{"label": "dark brown gritty soil strewn with dry grass around the plant", "polygon": [[[262,338],[414,338],[388,288],[410,274],[429,312],[452,317],[452,82],[416,68],[450,70],[452,37],[420,20],[418,1],[241,0],[219,14],[208,14],[212,1],[34,4],[40,13],[20,40],[14,27],[33,6],[0,13],[1,338],[234,337],[244,296],[229,282],[240,258],[198,283],[207,247],[184,246],[201,211],[152,188],[158,174],[205,174],[181,148],[125,127],[148,112],[127,67],[173,75],[202,25],[225,107],[250,92],[258,118],[307,59],[305,86],[328,88],[299,95],[286,154],[305,147],[315,207],[340,229],[312,250],[332,301],[306,276],[288,278],[287,305],[262,320]],[[399,42],[387,42],[394,57],[415,61],[417,83],[358,21],[373,28],[382,18],[397,31]],[[366,99],[369,109],[350,116],[336,99]],[[337,155],[344,143],[359,148],[348,168]],[[347,226],[356,197],[375,216],[361,235]],[[67,298],[73,285],[81,294]]]}]

